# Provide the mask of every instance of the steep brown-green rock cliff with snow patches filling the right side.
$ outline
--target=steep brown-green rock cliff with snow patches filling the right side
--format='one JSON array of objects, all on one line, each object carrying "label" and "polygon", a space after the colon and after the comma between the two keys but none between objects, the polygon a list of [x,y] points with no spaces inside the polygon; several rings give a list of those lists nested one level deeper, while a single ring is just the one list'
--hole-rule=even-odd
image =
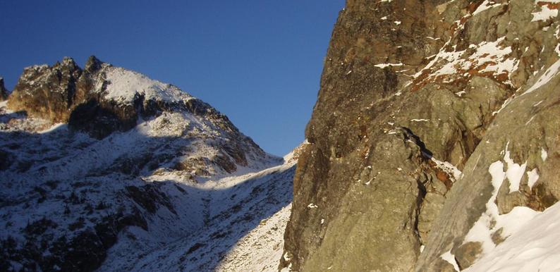
[{"label": "steep brown-green rock cliff with snow patches filling the right side", "polygon": [[507,237],[499,218],[554,204],[555,3],[348,0],[281,268],[464,269]]}]

